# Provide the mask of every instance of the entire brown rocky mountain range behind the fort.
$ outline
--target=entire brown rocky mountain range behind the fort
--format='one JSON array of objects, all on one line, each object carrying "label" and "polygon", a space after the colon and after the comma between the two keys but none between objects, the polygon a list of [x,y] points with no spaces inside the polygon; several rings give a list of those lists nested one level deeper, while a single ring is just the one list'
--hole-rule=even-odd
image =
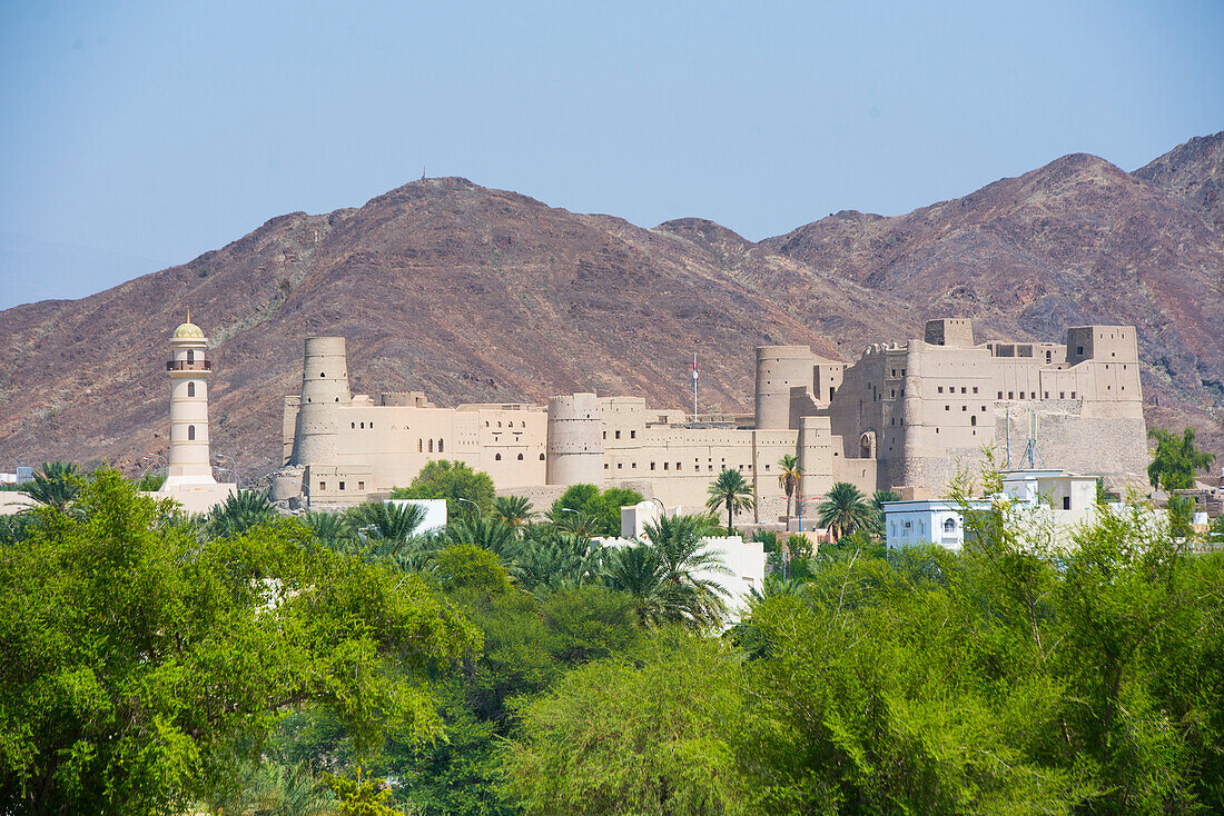
[{"label": "entire brown rocky mountain range behind the fort", "polygon": [[756,345],[853,360],[941,314],[1020,339],[1133,323],[1149,421],[1191,423],[1224,453],[1222,141],[1135,174],[1069,155],[907,215],[842,212],[756,243],[464,179],[283,215],[191,263],[0,312],[0,464],[164,451],[166,341],[188,306],[215,345],[214,450],[247,477],[279,464],[307,335],[349,338],[354,390],[439,405],[597,390],[683,406],[695,351],[703,410],[742,410]]}]

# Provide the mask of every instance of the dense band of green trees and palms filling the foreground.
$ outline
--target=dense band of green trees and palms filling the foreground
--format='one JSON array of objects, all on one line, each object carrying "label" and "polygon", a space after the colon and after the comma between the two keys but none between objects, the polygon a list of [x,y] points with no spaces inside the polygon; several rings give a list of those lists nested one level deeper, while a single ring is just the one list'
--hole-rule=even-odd
[{"label": "dense band of green trees and palms filling the foreground", "polygon": [[718,522],[603,548],[597,491],[428,536],[80,491],[0,531],[2,812],[1224,811],[1224,553],[1141,513],[886,554],[859,494],[721,631]]}]

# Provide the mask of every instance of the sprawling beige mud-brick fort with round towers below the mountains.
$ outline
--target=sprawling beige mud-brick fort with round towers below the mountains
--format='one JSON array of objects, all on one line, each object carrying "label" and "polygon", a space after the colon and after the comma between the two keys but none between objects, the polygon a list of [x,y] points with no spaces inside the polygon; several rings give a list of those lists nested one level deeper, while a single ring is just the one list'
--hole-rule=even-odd
[{"label": "sprawling beige mud-brick fort with round towers below the mountains", "polygon": [[1013,466],[1142,481],[1147,428],[1133,327],[1070,328],[1064,344],[976,343],[968,319],[876,344],[854,363],[805,346],[756,350],[752,417],[694,422],[635,396],[570,394],[547,405],[437,407],[421,393],[349,391],[344,338],[308,338],[300,394],[285,398],[275,498],[355,504],[406,486],[430,460],[487,472],[502,493],[548,500],[569,484],[632,487],[698,508],[723,469],[755,487],[759,520],[782,514],[778,460],[802,493],[838,481],[938,494],[983,447]]}]

